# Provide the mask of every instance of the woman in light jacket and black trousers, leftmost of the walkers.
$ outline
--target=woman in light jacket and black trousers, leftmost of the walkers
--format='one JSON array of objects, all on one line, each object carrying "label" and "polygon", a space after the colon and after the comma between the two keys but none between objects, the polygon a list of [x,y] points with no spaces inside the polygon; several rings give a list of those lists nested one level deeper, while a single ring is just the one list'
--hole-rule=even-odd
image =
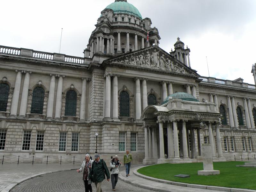
[{"label": "woman in light jacket and black trousers, leftmost of the walkers", "polygon": [[81,168],[77,169],[77,172],[83,173],[83,180],[84,180],[84,188],[85,192],[92,192],[92,181],[88,179],[88,176],[90,174],[91,168],[92,168],[92,162],[93,160],[90,159],[90,155],[85,155],[85,160],[83,161]]}]

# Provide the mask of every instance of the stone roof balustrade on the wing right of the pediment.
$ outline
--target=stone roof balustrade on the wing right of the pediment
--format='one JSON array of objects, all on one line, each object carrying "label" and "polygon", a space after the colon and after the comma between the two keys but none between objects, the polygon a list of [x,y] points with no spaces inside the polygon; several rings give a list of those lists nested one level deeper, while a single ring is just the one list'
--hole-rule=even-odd
[{"label": "stone roof balustrade on the wing right of the pediment", "polygon": [[253,84],[241,83],[241,82],[224,80],[224,79],[216,79],[214,77],[201,76],[201,77],[199,77],[199,79],[201,79],[203,83],[228,85],[231,87],[241,87],[241,88],[245,88],[245,89],[256,89],[255,85],[253,85]]}]

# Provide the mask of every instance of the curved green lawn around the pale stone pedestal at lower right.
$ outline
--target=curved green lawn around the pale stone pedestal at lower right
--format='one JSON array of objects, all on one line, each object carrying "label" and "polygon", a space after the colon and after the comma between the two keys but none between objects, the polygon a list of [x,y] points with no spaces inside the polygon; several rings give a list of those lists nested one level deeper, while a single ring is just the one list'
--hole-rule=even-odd
[{"label": "curved green lawn around the pale stone pedestal at lower right", "polygon": [[[209,176],[197,175],[197,171],[203,170],[203,163],[157,164],[140,168],[138,172],[158,179],[183,183],[256,190],[256,168],[236,167],[242,164],[244,162],[241,161],[213,163],[213,169],[220,170],[220,175]],[[188,174],[190,177],[174,177],[177,174]]]}]

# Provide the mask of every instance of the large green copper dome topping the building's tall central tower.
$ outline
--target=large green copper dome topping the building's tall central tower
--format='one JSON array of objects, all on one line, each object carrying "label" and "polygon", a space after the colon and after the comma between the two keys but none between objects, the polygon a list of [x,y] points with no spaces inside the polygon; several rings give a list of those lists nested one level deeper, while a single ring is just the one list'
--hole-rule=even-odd
[{"label": "large green copper dome topping the building's tall central tower", "polygon": [[127,13],[139,17],[142,19],[139,10],[132,4],[127,3],[126,0],[116,0],[106,7],[106,9],[112,9],[114,13]]}]

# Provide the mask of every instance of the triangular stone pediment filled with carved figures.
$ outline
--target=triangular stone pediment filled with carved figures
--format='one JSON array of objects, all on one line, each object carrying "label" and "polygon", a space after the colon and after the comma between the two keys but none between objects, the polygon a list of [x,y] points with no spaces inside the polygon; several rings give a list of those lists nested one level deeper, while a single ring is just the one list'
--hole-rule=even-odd
[{"label": "triangular stone pediment filled with carved figures", "polygon": [[163,70],[184,75],[199,76],[195,70],[188,68],[179,60],[173,58],[169,53],[154,45],[138,51],[126,53],[104,61],[125,66]]}]

